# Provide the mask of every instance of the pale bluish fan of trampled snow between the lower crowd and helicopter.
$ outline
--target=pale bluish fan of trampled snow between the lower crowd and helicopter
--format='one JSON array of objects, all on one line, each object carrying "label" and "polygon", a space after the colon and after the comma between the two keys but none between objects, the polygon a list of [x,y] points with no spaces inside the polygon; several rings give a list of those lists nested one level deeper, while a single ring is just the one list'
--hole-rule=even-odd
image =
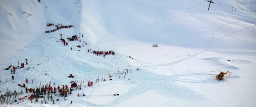
[{"label": "pale bluish fan of trampled snow between the lower crowd and helicopter", "polygon": [[[102,104],[101,106],[110,106],[113,107],[116,104],[121,103],[129,98],[132,98],[136,95],[140,95],[145,93],[146,91],[153,90],[157,94],[173,97],[173,98],[180,98],[183,100],[189,101],[198,101],[198,100],[205,100],[206,97],[201,95],[194,90],[188,89],[187,87],[183,87],[180,85],[175,84],[175,76],[163,76],[163,75],[156,75],[151,72],[134,72],[131,74],[131,80],[128,81],[130,84],[134,84],[131,81],[135,81],[136,85],[132,89],[130,89],[124,95],[119,95],[115,100],[111,101],[109,104]],[[140,82],[136,82],[140,81]],[[166,82],[168,81],[168,82]]]}]

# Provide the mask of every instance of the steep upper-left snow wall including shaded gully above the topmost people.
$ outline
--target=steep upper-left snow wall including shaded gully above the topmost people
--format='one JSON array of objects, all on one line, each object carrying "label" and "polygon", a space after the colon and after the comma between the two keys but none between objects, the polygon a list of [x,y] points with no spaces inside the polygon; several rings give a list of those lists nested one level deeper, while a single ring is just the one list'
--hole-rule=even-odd
[{"label": "steep upper-left snow wall including shaded gully above the topmost people", "polygon": [[[1,0],[0,60],[15,55],[44,31],[55,29],[49,23],[74,25],[81,22],[80,0]],[[78,31],[76,31],[78,32]]]}]

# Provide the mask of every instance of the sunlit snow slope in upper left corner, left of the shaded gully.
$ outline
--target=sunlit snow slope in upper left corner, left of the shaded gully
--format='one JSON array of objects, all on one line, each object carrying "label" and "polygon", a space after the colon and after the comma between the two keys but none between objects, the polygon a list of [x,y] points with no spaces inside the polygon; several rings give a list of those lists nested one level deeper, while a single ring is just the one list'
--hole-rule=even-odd
[{"label": "sunlit snow slope in upper left corner, left of the shaded gully", "polygon": [[1,0],[0,14],[1,60],[15,55],[46,28],[43,6],[33,1]]}]

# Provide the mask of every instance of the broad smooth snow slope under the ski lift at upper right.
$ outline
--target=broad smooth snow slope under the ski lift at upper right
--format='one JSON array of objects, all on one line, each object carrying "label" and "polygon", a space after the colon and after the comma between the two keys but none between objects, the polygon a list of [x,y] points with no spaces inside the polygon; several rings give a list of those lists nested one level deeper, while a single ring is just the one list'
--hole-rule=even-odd
[{"label": "broad smooth snow slope under the ski lift at upper right", "polygon": [[[207,0],[84,1],[81,26],[110,47],[138,41],[201,49],[256,49],[256,13],[251,12],[255,3],[216,3],[208,11]],[[226,4],[239,9],[222,6]]]}]

